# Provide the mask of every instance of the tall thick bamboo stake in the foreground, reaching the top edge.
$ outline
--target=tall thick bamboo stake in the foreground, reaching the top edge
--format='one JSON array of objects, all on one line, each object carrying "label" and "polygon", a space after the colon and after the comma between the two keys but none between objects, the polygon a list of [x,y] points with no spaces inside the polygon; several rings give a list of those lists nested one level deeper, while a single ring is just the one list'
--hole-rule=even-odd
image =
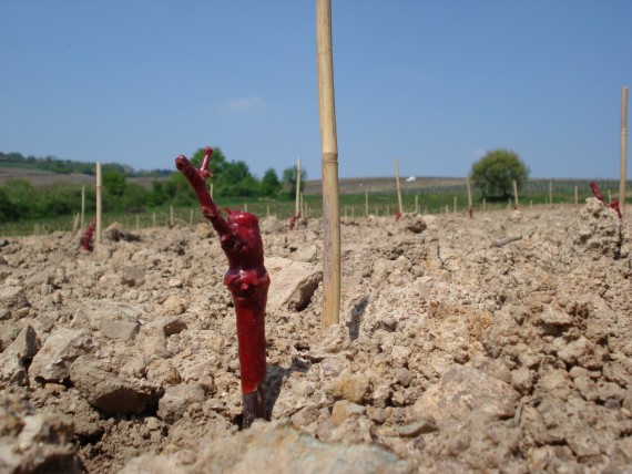
[{"label": "tall thick bamboo stake in the foreground, reaching the top edge", "polygon": [[340,204],[332,52],[332,0],[316,0],[316,63],[323,161],[323,322],[326,333],[340,315]]}]

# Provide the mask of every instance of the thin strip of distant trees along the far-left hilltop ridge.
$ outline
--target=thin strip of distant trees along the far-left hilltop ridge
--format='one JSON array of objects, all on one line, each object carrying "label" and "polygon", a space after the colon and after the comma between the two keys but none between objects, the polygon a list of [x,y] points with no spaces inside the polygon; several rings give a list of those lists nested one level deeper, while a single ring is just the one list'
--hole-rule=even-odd
[{"label": "thin strip of distant trees along the far-left hilltop ridge", "polygon": [[[23,156],[20,153],[0,152],[0,166],[2,166],[2,164],[12,164],[13,166],[23,165],[23,167],[59,174],[79,173],[93,176],[96,173],[94,163],[72,162],[70,159],[59,159],[54,156],[38,158],[35,156]],[[121,173],[128,177],[167,177],[173,172],[172,169],[134,171],[133,167],[119,163],[106,163],[102,168],[103,172]]]}]

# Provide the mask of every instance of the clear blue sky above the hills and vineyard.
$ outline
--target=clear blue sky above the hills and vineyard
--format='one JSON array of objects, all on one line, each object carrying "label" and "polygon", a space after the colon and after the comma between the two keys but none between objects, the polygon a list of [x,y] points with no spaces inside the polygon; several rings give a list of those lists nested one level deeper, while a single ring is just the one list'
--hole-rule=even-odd
[{"label": "clear blue sky above the hills and vineyard", "polygon": [[[0,151],[320,177],[314,0],[0,0]],[[619,176],[630,0],[333,0],[340,177]],[[629,164],[629,169],[632,165]],[[630,172],[629,172],[630,177]]]}]

